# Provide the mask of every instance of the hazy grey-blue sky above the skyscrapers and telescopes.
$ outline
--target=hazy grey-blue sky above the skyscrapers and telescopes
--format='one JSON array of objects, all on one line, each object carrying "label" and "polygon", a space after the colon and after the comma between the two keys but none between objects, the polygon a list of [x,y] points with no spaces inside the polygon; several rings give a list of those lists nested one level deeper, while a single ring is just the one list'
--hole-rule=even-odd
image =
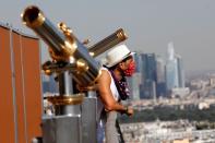
[{"label": "hazy grey-blue sky above the skyscrapers and telescopes", "polygon": [[215,70],[215,0],[1,0],[0,22],[33,35],[20,19],[31,4],[89,45],[122,27],[132,50],[164,57],[172,41],[186,71]]}]

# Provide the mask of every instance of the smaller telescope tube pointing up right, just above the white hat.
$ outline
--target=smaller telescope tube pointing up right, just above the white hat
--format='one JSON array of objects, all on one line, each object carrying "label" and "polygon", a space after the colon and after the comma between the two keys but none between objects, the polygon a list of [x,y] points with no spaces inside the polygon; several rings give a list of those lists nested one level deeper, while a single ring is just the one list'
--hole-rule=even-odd
[{"label": "smaller telescope tube pointing up right, just above the white hat", "polygon": [[109,35],[108,37],[104,38],[103,40],[100,40],[97,44],[89,47],[88,50],[93,57],[97,57],[98,55],[112,48],[114,46],[118,45],[119,43],[126,40],[127,38],[128,37],[127,37],[124,31],[122,28],[119,28],[114,34]]}]

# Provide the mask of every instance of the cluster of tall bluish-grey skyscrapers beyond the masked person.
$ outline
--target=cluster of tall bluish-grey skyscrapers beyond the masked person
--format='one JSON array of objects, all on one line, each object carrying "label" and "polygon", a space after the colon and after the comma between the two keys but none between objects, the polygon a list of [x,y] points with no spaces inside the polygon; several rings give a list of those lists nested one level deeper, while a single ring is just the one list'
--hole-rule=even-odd
[{"label": "cluster of tall bluish-grey skyscrapers beyond the masked person", "polygon": [[[174,44],[168,44],[167,58],[155,53],[134,56],[136,73],[129,80],[133,99],[157,98],[172,93],[189,93],[184,88],[184,71],[182,58],[175,53]],[[140,92],[140,93],[138,93]]]}]

